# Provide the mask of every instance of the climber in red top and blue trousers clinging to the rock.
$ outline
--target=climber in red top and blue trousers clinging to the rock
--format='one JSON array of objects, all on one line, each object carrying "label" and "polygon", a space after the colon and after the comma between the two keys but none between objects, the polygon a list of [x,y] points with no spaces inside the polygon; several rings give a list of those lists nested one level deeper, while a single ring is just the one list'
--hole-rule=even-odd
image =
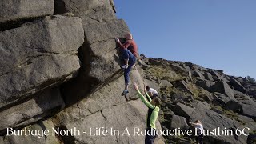
[{"label": "climber in red top and blue trousers clinging to the rock", "polygon": [[115,38],[116,42],[118,42],[118,46],[120,47],[120,51],[122,54],[122,59],[124,60],[124,65],[122,65],[122,69],[124,69],[124,77],[125,77],[125,90],[123,90],[122,95],[129,93],[128,86],[130,81],[130,70],[136,59],[138,57],[138,47],[133,39],[132,34],[125,34],[126,42],[121,43],[119,38]]}]

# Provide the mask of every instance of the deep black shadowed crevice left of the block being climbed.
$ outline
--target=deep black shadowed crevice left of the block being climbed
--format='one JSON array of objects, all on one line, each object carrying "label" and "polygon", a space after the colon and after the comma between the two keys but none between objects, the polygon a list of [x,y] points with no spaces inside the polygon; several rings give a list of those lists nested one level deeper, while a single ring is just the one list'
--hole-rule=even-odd
[{"label": "deep black shadowed crevice left of the block being climbed", "polygon": [[90,63],[93,61],[94,58],[97,57],[94,56],[94,54],[92,53],[90,49],[90,43],[88,42],[86,37],[85,42],[78,49],[78,58],[80,60],[81,66],[78,71],[78,76],[68,82],[63,83],[61,86],[61,93],[66,106],[71,106],[74,103],[82,100],[82,98],[86,98],[87,95],[94,93],[96,90],[99,90],[108,82],[116,79],[117,74],[119,78],[119,73],[122,71],[118,70],[116,73],[112,74],[109,78],[107,78],[105,82],[102,83],[98,81],[98,78],[90,77]]}]

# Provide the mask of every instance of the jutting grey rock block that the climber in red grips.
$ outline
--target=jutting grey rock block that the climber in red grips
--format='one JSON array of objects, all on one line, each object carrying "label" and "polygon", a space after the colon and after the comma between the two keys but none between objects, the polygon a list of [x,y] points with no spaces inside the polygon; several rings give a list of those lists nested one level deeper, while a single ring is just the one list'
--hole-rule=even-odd
[{"label": "jutting grey rock block that the climber in red grips", "polygon": [[[87,26],[86,41],[90,45],[87,48],[93,57],[90,62],[89,76],[96,78],[99,83],[104,82],[106,78],[120,69],[114,37],[122,37],[125,31],[129,30],[122,20]],[[98,47],[102,47],[102,50],[99,50]]]}]

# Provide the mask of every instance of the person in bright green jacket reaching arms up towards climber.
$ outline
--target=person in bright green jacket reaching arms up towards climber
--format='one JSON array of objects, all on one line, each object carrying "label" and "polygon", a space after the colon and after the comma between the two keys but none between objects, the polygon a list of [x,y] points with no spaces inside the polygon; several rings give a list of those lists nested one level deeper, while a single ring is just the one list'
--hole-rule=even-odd
[{"label": "person in bright green jacket reaching arms up towards climber", "polygon": [[153,144],[154,139],[157,137],[154,131],[156,130],[155,122],[158,118],[158,113],[160,110],[159,106],[160,106],[161,100],[158,97],[151,99],[147,93],[145,93],[146,94],[146,98],[145,98],[141,94],[141,92],[138,90],[137,83],[134,83],[134,89],[137,91],[139,98],[142,99],[142,102],[149,108],[146,114],[145,144]]}]

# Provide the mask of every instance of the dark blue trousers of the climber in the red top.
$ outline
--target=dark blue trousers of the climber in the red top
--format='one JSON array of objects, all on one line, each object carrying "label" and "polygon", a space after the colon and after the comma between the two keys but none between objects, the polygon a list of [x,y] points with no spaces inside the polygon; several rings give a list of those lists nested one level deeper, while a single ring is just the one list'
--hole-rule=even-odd
[{"label": "dark blue trousers of the climber in the red top", "polygon": [[136,57],[134,56],[134,54],[132,54],[130,52],[130,50],[127,50],[127,49],[121,49],[121,53],[122,53],[123,61],[125,59],[128,59],[129,66],[128,66],[127,69],[124,70],[124,77],[125,77],[126,84],[129,84],[129,81],[130,81],[130,76],[129,76],[130,75],[130,70],[134,66],[134,63],[136,62]]}]

